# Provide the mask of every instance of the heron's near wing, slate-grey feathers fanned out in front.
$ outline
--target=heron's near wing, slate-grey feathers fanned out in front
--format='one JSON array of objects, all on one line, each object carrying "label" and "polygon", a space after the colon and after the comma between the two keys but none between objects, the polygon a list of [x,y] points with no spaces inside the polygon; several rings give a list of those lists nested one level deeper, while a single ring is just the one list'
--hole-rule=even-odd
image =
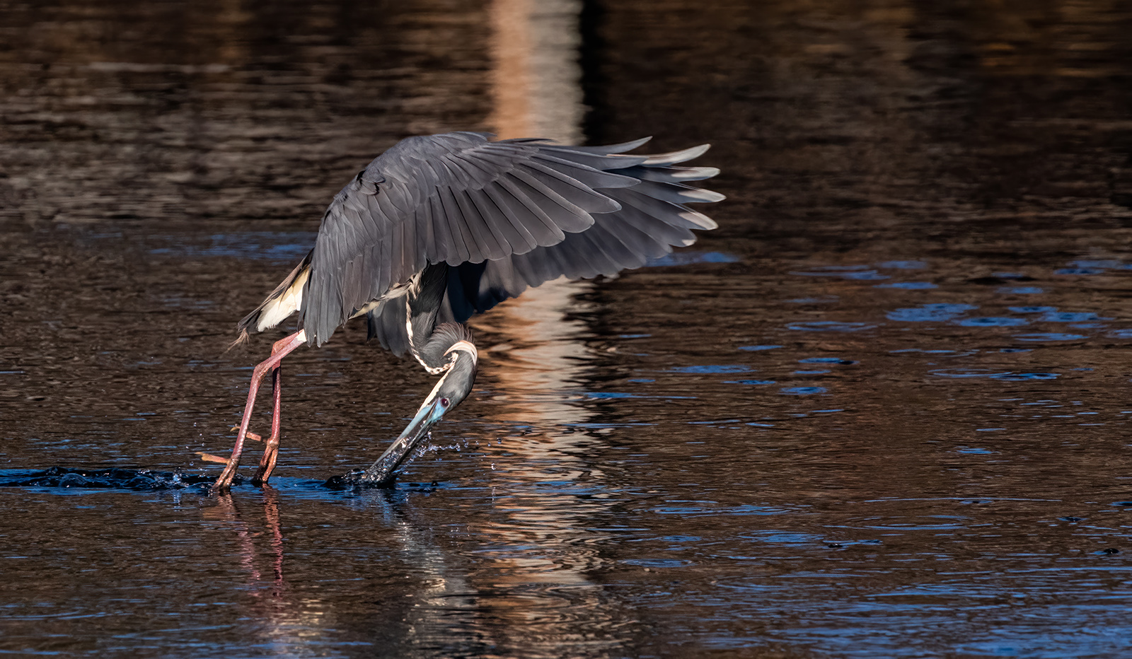
[{"label": "heron's near wing, slate-grey feathers fanned out in front", "polygon": [[[641,180],[609,170],[648,159],[611,155],[616,148],[488,142],[475,132],[401,140],[359,172],[323,216],[299,305],[308,342],[321,344],[429,264],[529,254],[586,231],[595,215],[620,211],[610,192]],[[607,165],[610,160],[617,166]]]}]

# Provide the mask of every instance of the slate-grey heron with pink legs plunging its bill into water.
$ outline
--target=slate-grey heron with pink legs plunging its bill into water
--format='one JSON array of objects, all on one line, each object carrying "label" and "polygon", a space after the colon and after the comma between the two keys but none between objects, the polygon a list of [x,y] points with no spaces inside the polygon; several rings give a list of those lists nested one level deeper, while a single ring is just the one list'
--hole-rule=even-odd
[{"label": "slate-grey heron with pink legs plunging its bill into water", "polygon": [[[240,339],[298,311],[298,332],[256,366],[239,435],[213,493],[226,491],[240,464],[259,383],[274,371],[272,434],[256,485],[275,468],[280,362],[303,343],[321,345],[351,318],[398,357],[411,353],[440,375],[400,437],[352,482],[383,485],[475,380],[478,353],[463,324],[531,286],[558,279],[641,267],[692,229],[715,223],[685,204],[723,195],[686,181],[715,168],[677,166],[707,145],[627,155],[645,142],[564,146],[546,139],[491,142],[478,132],[410,137],[377,156],[342,188],[323,215],[315,248],[238,325]],[[238,340],[238,341],[239,341]]]}]

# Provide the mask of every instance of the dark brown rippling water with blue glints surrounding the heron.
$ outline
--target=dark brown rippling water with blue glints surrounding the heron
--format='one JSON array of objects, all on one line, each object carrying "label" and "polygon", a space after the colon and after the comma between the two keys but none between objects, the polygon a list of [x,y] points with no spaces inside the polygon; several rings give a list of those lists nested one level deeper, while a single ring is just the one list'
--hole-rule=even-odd
[{"label": "dark brown rippling water with blue glints surrounding the heron", "polygon": [[477,320],[391,491],[320,483],[431,379],[294,353],[209,499],[331,195],[492,127],[494,6],[358,5],[0,1],[0,651],[1132,654],[1132,7],[584,3],[586,139],[720,229]]}]

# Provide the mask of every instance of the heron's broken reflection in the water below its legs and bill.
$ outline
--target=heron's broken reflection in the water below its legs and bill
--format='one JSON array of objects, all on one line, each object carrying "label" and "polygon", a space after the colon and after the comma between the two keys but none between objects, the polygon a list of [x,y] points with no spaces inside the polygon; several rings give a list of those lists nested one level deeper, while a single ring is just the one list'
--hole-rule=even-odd
[{"label": "heron's broken reflection in the water below its legs and bill", "polygon": [[[354,499],[355,507],[369,513],[369,533],[383,541],[380,559],[369,566],[369,574],[354,581],[351,588],[371,592],[369,608],[358,608],[355,598],[340,599],[327,592],[324,580],[310,580],[311,573],[291,563],[294,574],[289,581],[281,523],[280,493],[263,488],[263,516],[249,508],[247,499],[230,495],[215,498],[206,508],[206,517],[222,522],[234,534],[239,568],[245,575],[248,598],[243,600],[239,619],[241,633],[258,636],[272,656],[319,656],[326,642],[346,633],[351,644],[372,647],[400,657],[482,656],[497,643],[491,637],[491,615],[482,606],[481,596],[469,585],[463,562],[439,546],[428,524],[414,523],[406,513],[405,493],[371,490]],[[338,505],[341,502],[335,502]],[[294,502],[309,511],[303,502]],[[384,553],[392,548],[393,556]],[[318,562],[335,560],[343,548],[326,546]],[[374,546],[359,542],[354,550],[372,551]],[[310,551],[309,547],[306,549]],[[295,562],[310,556],[294,558]],[[392,558],[392,560],[391,560]],[[315,574],[319,574],[317,571]],[[340,601],[349,601],[343,609]],[[345,632],[349,631],[349,632]]]}]

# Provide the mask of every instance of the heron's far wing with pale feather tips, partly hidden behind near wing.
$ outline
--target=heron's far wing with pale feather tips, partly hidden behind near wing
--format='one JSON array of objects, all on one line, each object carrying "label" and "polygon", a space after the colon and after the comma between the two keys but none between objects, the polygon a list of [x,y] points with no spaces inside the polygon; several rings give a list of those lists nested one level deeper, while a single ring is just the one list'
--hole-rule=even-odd
[{"label": "heron's far wing with pale feather tips, partly hidden behind near wing", "polygon": [[[556,159],[628,177],[634,185],[599,191],[618,208],[593,215],[583,231],[566,233],[561,241],[504,258],[461,263],[448,268],[448,290],[440,319],[466,320],[528,288],[567,276],[612,275],[641,267],[669,254],[674,247],[695,242],[693,229],[714,229],[715,222],[685,206],[719,202],[723,195],[686,185],[719,173],[715,168],[675,166],[707,151],[707,145],[650,156],[617,155],[636,148],[644,139],[606,147],[540,145]],[[369,313],[370,335],[397,354],[408,346],[404,305],[381,305]]]}]

